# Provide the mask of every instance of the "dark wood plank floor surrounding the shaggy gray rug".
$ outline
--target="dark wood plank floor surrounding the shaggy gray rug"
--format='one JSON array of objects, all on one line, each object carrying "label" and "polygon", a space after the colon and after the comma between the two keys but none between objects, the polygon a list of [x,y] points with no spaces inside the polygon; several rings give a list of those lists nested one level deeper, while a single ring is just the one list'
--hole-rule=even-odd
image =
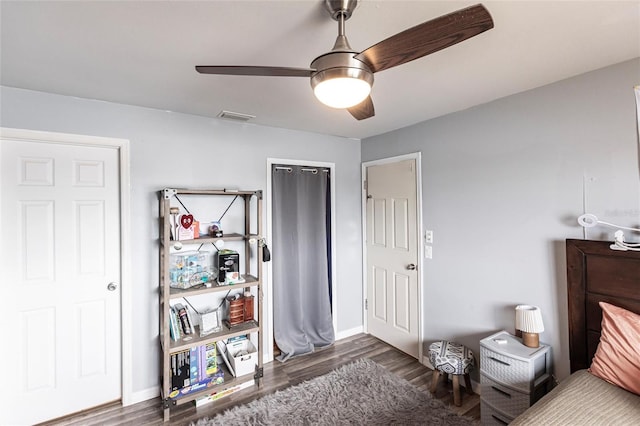
[{"label": "dark wood plank floor surrounding the shaggy gray rug", "polygon": [[[293,358],[285,363],[274,361],[264,366],[263,386],[251,387],[219,401],[197,408],[183,404],[171,410],[171,420],[163,422],[160,398],[154,398],[128,407],[120,402],[108,404],[93,410],[84,411],[46,425],[188,425],[202,417],[211,417],[236,404],[247,403],[259,396],[273,393],[291,385],[330,372],[344,364],[359,358],[369,358],[394,374],[411,382],[425,391],[431,384],[431,370],[420,364],[415,358],[392,346],[366,334],[358,334],[339,340],[335,345],[313,354]],[[480,397],[462,392],[462,406],[453,405],[451,383],[442,380],[435,397],[449,405],[459,414],[480,420]]]}]

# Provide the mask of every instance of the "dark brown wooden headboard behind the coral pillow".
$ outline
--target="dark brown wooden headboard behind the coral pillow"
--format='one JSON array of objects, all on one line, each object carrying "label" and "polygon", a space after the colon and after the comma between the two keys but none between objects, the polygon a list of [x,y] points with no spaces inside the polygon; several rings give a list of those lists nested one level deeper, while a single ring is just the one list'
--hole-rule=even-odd
[{"label": "dark brown wooden headboard behind the coral pillow", "polygon": [[604,301],[640,314],[640,252],[607,241],[567,240],[571,372],[588,368],[600,341]]}]

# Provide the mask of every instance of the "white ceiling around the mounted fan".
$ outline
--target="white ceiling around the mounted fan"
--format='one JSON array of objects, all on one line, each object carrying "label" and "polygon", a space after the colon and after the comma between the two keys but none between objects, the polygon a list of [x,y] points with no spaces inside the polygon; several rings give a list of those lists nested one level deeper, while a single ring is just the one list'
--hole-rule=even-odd
[{"label": "white ceiling around the mounted fan", "polygon": [[[363,0],[353,49],[478,1]],[[375,75],[376,116],[315,100],[300,77],[202,75],[195,65],[308,67],[337,35],[314,1],[5,1],[4,86],[365,138],[640,57],[640,0],[486,1],[495,28]],[[639,81],[640,83],[640,75]]]}]

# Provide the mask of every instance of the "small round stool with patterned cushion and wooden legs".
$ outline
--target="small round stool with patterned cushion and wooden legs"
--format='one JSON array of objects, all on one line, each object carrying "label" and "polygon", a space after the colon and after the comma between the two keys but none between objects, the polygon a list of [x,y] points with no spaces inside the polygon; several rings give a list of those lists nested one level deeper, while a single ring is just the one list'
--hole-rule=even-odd
[{"label": "small round stool with patterned cushion and wooden legs", "polygon": [[441,340],[429,345],[429,360],[435,369],[431,380],[431,393],[435,393],[438,386],[438,379],[442,375],[445,382],[448,374],[453,376],[453,403],[456,407],[462,405],[460,398],[460,376],[464,376],[464,383],[467,393],[473,395],[471,389],[471,376],[469,372],[473,370],[475,358],[473,352],[460,343]]}]

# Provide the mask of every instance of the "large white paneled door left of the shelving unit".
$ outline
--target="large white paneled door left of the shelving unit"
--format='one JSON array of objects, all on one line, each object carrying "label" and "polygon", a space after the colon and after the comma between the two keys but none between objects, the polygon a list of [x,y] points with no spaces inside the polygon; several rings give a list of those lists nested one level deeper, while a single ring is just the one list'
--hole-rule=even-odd
[{"label": "large white paneled door left of the shelving unit", "polygon": [[1,144],[0,424],[33,424],[121,398],[119,157]]}]

